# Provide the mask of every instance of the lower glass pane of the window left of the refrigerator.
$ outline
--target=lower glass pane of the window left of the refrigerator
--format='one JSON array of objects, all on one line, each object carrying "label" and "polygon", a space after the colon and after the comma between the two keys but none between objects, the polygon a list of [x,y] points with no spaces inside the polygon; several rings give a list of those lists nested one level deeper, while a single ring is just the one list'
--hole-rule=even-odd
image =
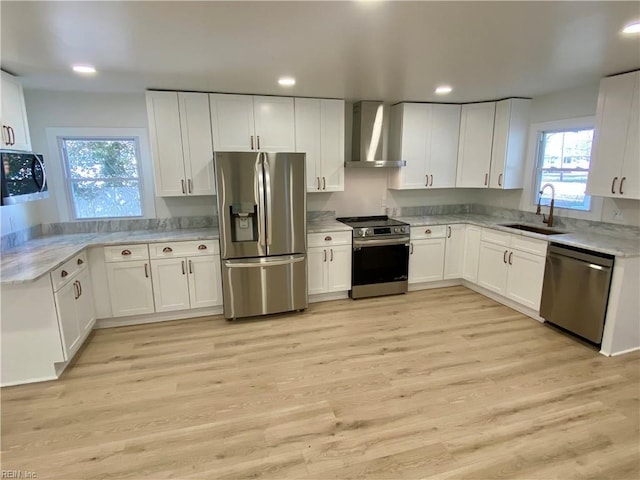
[{"label": "lower glass pane of the window left of the refrigerator", "polygon": [[138,180],[74,181],[71,189],[76,218],[142,215]]}]

